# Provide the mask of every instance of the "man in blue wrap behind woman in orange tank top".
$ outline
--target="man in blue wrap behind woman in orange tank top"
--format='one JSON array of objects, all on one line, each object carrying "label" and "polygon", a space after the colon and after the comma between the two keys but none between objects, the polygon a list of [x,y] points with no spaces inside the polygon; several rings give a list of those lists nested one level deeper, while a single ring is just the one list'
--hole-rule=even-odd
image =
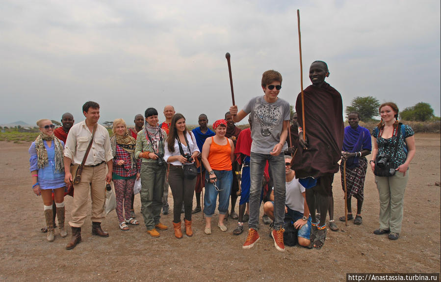
[{"label": "man in blue wrap behind woman in orange tank top", "polygon": [[[202,146],[204,145],[205,140],[208,137],[214,136],[215,133],[207,127],[208,117],[205,113],[201,113],[198,118],[199,127],[196,127],[192,130],[194,137],[196,139],[196,143],[198,144],[199,150],[202,152]],[[205,168],[202,164],[201,160],[202,154],[199,154],[198,159],[201,161],[201,166],[198,168],[198,176],[196,180],[196,185],[194,187],[194,192],[196,194],[196,207],[192,211],[192,213],[198,213],[201,209],[201,193],[202,188],[205,187],[205,177],[201,175],[205,175]]]}]

